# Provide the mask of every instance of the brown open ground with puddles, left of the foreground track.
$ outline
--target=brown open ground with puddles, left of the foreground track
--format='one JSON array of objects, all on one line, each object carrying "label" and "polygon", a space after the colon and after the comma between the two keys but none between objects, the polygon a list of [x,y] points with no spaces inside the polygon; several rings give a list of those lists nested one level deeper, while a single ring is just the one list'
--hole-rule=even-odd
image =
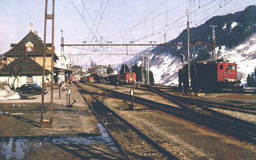
[{"label": "brown open ground with puddles, left of the foreground track", "polygon": [[[71,108],[56,90],[53,129],[40,128],[42,95],[23,94],[20,100],[0,101],[0,159],[125,158],[75,89],[71,101],[74,97],[77,103]],[[44,119],[50,116],[49,96]]]}]

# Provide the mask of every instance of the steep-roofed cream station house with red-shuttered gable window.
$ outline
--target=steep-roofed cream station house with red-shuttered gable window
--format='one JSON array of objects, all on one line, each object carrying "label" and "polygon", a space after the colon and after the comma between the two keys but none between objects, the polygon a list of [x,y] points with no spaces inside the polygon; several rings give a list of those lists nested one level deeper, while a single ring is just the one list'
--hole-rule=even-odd
[{"label": "steep-roofed cream station house with red-shuttered gable window", "polygon": [[[52,44],[46,44],[46,54],[45,54],[45,83],[51,82],[51,57],[52,53]],[[11,44],[11,49],[3,54],[3,57],[6,58],[6,65],[4,68],[0,70],[0,81],[8,82],[9,85],[13,87],[20,87],[25,83],[37,83],[42,86],[42,76],[43,76],[43,54],[44,54],[44,42],[38,37],[37,31],[34,31],[33,24],[30,23],[29,33],[18,43]],[[31,71],[29,74],[26,65],[28,67],[32,67],[31,63],[28,62],[14,62],[21,59],[26,59],[28,62],[34,61],[39,66],[37,66],[37,71]],[[31,60],[30,60],[31,59]],[[57,68],[57,60],[59,60],[58,56],[54,51],[54,82],[58,82],[60,80],[59,74],[61,73],[61,68]],[[12,63],[13,62],[13,63]],[[35,63],[34,67],[36,66]],[[12,64],[11,64],[12,63]],[[17,65],[20,65],[22,68],[17,68]],[[14,66],[14,67],[13,67]],[[7,68],[9,69],[7,69]],[[12,67],[12,69],[10,69]],[[16,70],[14,70],[16,69]],[[24,72],[26,70],[26,72]],[[7,71],[10,71],[9,74]],[[13,71],[19,71],[20,73],[13,74]],[[71,71],[64,69],[65,72],[65,81],[68,81],[68,76],[70,76]],[[35,74],[35,76],[33,75]],[[39,75],[41,75],[41,80],[39,80]],[[7,80],[6,80],[6,77]]]}]

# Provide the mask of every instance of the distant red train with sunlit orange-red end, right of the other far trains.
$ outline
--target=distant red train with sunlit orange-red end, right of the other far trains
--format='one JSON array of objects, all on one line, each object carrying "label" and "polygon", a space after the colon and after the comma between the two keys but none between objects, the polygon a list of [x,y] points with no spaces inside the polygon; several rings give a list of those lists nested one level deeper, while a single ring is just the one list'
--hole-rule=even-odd
[{"label": "distant red train with sunlit orange-red end, right of the other far trains", "polygon": [[110,75],[108,76],[108,82],[110,84],[135,84],[136,74],[129,72],[125,74]]}]

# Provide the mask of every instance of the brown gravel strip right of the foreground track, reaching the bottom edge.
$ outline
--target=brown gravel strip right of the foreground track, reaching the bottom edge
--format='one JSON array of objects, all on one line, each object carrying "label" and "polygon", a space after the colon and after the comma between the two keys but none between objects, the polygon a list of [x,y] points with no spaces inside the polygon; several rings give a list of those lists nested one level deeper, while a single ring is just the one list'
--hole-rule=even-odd
[{"label": "brown gravel strip right of the foreground track, reaching the bottom edge", "polygon": [[122,100],[109,98],[106,103],[180,159],[254,159],[256,157],[255,145],[226,137],[204,126],[140,105],[136,105],[137,110],[127,111],[128,106]]}]

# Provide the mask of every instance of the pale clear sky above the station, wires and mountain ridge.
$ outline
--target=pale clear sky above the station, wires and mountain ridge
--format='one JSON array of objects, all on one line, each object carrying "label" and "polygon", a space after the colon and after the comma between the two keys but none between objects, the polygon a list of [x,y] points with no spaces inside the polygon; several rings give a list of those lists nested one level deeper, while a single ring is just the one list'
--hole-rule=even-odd
[{"label": "pale clear sky above the station, wires and mountain ridge", "polygon": [[[49,11],[51,11],[49,0]],[[226,5],[225,5],[226,4]],[[130,43],[145,44],[150,41],[164,43],[164,34],[167,41],[177,37],[186,28],[187,9],[190,14],[190,27],[201,25],[213,15],[234,13],[244,7],[255,5],[251,0],[61,0],[55,1],[54,45],[61,50],[61,32],[63,28],[65,44],[82,44],[83,42],[103,43],[111,41],[113,44]],[[199,8],[200,6],[200,8]],[[167,11],[167,14],[166,14]],[[10,50],[11,43],[18,43],[28,34],[29,23],[34,23],[38,36],[43,39],[45,1],[43,0],[9,0],[0,2],[0,54]],[[50,14],[50,12],[49,12]],[[146,18],[146,19],[145,19]],[[204,20],[205,19],[205,20]],[[51,21],[47,21],[50,24]],[[94,22],[94,23],[93,23]],[[167,25],[167,26],[166,26]],[[96,29],[97,28],[97,29]],[[50,25],[47,28],[50,29]],[[47,35],[47,43],[50,33]],[[95,42],[97,41],[97,42]],[[72,54],[91,53],[125,53],[126,49],[112,47],[92,48],[86,50],[66,47]],[[87,51],[87,49],[89,51]],[[130,47],[131,53],[138,53],[146,47]],[[108,63],[115,64],[115,58],[96,57],[94,61],[108,59]],[[117,59],[123,59],[118,57]],[[77,65],[85,65],[90,58],[73,58]],[[100,61],[97,62],[98,64]],[[106,65],[104,62],[103,65]],[[100,64],[99,64],[100,65]],[[116,64],[115,64],[116,65]]]}]

